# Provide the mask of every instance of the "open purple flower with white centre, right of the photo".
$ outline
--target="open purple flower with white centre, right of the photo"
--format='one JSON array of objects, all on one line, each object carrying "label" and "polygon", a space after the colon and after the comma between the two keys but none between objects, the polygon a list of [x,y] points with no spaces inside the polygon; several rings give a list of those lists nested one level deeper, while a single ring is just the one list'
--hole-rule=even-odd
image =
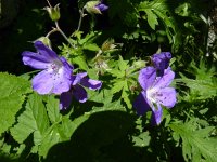
[{"label": "open purple flower with white centre, right of the photo", "polygon": [[170,67],[164,70],[163,77],[156,76],[154,67],[143,68],[139,73],[142,92],[136,98],[133,107],[140,116],[152,110],[152,124],[159,124],[162,121],[163,109],[161,105],[171,108],[177,102],[175,89],[169,87],[174,77],[175,73]]}]

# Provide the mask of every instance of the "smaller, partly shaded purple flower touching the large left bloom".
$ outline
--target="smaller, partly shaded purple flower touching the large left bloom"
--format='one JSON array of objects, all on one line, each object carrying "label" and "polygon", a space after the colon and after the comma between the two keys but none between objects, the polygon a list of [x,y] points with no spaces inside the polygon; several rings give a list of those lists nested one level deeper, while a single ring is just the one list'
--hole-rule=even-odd
[{"label": "smaller, partly shaded purple flower touching the large left bloom", "polygon": [[87,77],[87,72],[73,76],[71,90],[61,94],[60,108],[66,109],[69,107],[73,96],[79,103],[85,103],[88,99],[88,95],[84,86],[88,87],[89,90],[99,90],[101,85],[101,81],[89,79]]}]

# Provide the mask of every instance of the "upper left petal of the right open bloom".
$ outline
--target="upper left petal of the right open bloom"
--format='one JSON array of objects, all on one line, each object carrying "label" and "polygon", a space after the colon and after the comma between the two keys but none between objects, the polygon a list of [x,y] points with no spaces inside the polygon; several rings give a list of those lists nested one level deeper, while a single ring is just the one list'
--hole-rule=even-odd
[{"label": "upper left petal of the right open bloom", "polygon": [[139,83],[143,90],[150,87],[156,78],[156,70],[153,67],[143,68],[139,73]]}]

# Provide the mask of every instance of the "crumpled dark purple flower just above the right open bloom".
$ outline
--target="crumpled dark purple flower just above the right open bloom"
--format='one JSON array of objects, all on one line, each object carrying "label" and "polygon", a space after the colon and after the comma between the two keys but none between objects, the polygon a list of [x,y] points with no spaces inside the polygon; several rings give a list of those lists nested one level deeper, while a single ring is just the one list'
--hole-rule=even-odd
[{"label": "crumpled dark purple flower just above the right open bloom", "polygon": [[154,67],[157,69],[157,76],[162,77],[164,76],[164,69],[167,69],[169,66],[171,54],[170,52],[162,52],[159,54],[154,54],[151,59]]}]

